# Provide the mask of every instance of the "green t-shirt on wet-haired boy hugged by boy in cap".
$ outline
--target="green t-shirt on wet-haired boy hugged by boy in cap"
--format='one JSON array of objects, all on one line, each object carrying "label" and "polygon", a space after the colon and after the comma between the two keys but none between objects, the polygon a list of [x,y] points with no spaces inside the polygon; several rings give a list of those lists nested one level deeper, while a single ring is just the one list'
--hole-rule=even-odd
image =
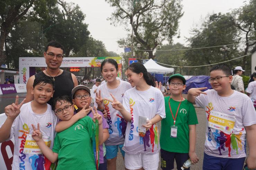
[{"label": "green t-shirt on wet-haired boy hugged by boy in cap", "polygon": [[57,169],[96,169],[92,147],[94,129],[95,123],[86,116],[56,134],[53,152],[58,153]]}]

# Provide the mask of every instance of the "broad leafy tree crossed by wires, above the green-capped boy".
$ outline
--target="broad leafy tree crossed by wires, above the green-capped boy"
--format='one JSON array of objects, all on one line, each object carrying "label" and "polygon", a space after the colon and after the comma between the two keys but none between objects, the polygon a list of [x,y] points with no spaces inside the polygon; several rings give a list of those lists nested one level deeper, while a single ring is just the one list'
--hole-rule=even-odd
[{"label": "broad leafy tree crossed by wires, above the green-capped boy", "polygon": [[[235,44],[240,41],[238,30],[233,25],[229,14],[212,14],[205,20],[200,28],[192,31],[192,37],[188,38],[189,48],[213,47],[225,44]],[[222,53],[220,47],[186,50],[186,58],[189,66],[201,66],[213,64],[240,56],[238,45],[228,46],[231,51]],[[226,58],[225,58],[226,56]],[[232,67],[237,60],[228,62]],[[193,74],[209,74],[209,67],[195,67]]]}]

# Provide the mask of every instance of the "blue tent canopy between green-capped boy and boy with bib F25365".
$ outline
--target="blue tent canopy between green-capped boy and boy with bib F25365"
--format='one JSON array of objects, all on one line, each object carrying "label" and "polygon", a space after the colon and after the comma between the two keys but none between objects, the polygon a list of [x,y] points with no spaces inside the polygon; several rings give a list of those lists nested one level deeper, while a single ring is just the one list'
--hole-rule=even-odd
[{"label": "blue tent canopy between green-capped boy and boy with bib F25365", "polygon": [[[183,93],[188,93],[189,89],[191,88],[200,88],[200,87],[207,87],[206,90],[211,89],[211,84],[209,83],[208,79],[210,76],[193,76],[189,80],[186,81],[186,89]],[[202,90],[205,91],[205,90]]]}]

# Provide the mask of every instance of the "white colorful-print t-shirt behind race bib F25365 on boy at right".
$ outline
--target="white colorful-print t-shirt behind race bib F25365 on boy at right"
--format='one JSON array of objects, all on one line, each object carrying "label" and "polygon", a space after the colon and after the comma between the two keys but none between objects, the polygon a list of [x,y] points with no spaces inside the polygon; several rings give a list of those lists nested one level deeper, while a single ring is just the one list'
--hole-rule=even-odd
[{"label": "white colorful-print t-shirt behind race bib F25365 on boy at right", "polygon": [[[229,97],[220,97],[213,89],[205,92],[207,95],[201,94],[195,98],[196,105],[204,108],[206,112],[204,152],[222,158],[246,157],[245,126],[256,124],[256,112],[250,98],[235,90]],[[231,134],[208,126],[211,110],[235,116],[236,121]]]}]

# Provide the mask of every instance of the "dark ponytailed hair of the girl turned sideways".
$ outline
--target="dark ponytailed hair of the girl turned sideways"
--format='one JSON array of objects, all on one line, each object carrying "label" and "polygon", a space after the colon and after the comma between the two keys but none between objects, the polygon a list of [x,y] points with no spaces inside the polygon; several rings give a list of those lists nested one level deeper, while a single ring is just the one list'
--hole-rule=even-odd
[{"label": "dark ponytailed hair of the girl turned sideways", "polygon": [[143,78],[145,79],[146,83],[149,86],[155,87],[154,78],[151,76],[151,74],[149,72],[147,72],[147,69],[145,68],[145,66],[143,64],[141,64],[139,62],[134,62],[134,63],[130,64],[127,67],[127,69],[130,69],[132,72],[135,72],[137,74],[143,73]]}]

